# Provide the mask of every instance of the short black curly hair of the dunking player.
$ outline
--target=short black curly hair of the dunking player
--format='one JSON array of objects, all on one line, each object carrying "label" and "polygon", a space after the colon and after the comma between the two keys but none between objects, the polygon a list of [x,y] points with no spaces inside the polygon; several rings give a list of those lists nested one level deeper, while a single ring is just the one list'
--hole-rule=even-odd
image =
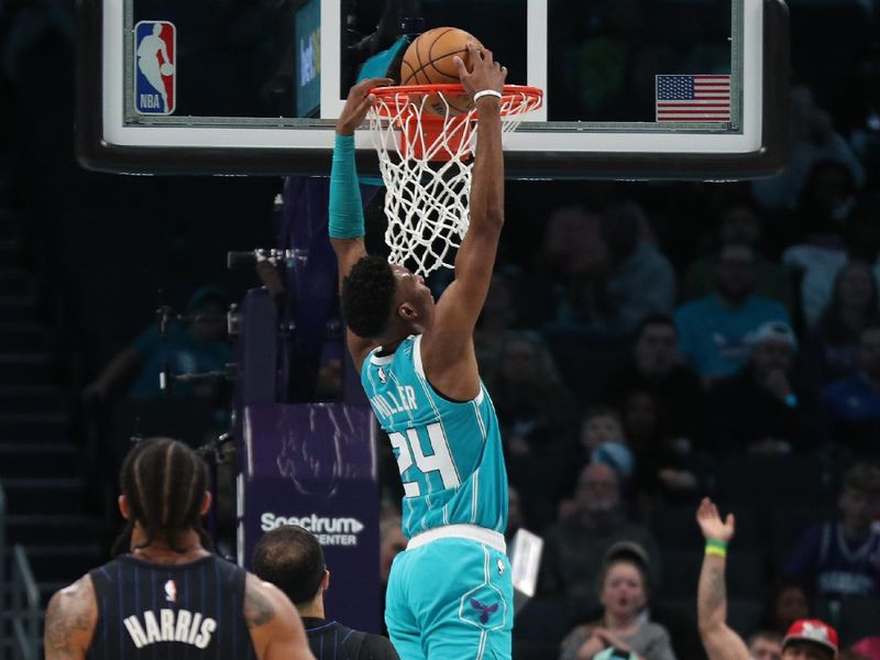
[{"label": "short black curly hair of the dunking player", "polygon": [[342,317],[358,337],[375,339],[388,327],[397,280],[391,264],[366,255],[342,280]]}]

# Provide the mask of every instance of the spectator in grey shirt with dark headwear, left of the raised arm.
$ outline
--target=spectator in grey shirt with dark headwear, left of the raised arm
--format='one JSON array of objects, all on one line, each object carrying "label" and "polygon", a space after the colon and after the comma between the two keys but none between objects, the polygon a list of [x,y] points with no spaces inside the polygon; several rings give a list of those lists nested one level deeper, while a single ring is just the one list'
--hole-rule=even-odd
[{"label": "spectator in grey shirt with dark headwear, left of the raised arm", "polygon": [[649,564],[648,553],[638,543],[624,541],[608,549],[598,579],[603,614],[569,634],[560,660],[596,658],[609,648],[642,660],[674,660],[669,632],[648,616]]}]

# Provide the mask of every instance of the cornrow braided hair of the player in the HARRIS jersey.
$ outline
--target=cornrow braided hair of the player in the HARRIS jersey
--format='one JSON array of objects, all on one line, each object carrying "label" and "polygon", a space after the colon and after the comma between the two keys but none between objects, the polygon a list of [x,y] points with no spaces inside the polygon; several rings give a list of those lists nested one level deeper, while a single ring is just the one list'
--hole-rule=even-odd
[{"label": "cornrow braided hair of the player in the HARRIS jersey", "polygon": [[141,440],[122,463],[119,485],[131,515],[113,543],[113,554],[130,550],[135,521],[146,531],[146,542],[139,548],[162,539],[175,552],[186,552],[186,548],[177,547],[177,539],[189,530],[199,535],[204,547],[211,546],[200,515],[208,469],[183,442],[170,438]]}]

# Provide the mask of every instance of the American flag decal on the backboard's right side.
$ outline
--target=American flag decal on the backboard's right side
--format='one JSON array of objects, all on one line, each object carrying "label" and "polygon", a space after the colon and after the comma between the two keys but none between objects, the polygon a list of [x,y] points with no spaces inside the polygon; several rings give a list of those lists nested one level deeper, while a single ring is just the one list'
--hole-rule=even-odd
[{"label": "American flag decal on the backboard's right side", "polygon": [[657,121],[730,121],[730,76],[657,76]]}]

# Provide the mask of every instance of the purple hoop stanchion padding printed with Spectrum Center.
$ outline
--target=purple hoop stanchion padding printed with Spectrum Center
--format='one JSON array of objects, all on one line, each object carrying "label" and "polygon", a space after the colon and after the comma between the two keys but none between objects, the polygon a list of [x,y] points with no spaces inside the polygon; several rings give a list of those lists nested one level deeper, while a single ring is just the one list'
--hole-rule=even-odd
[{"label": "purple hoop stanchion padding printed with Spectrum Center", "polygon": [[330,569],[327,616],[380,627],[378,487],[372,413],[344,404],[253,405],[241,419],[239,563],[264,531],[299,525]]}]

